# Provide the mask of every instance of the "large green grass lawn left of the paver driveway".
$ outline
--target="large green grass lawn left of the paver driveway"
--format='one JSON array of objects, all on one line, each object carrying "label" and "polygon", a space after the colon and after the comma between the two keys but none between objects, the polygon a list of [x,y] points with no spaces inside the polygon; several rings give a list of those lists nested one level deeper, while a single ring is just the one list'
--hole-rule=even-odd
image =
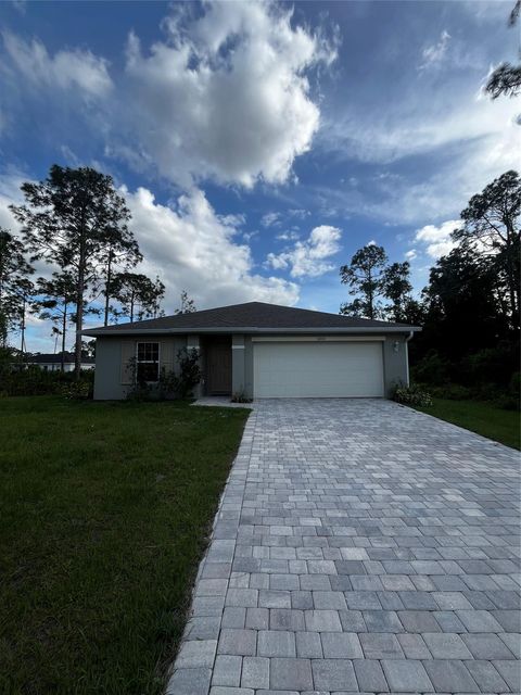
[{"label": "large green grass lawn left of the paver driveway", "polygon": [[0,399],[0,692],[156,694],[247,410]]}]

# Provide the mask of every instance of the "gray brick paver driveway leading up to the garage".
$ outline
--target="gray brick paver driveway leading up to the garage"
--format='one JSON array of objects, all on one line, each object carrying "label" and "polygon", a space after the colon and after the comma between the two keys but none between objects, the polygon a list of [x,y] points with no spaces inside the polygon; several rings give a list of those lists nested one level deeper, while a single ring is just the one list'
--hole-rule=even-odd
[{"label": "gray brick paver driveway leading up to the garage", "polygon": [[256,404],[168,693],[520,693],[518,469],[386,401]]}]

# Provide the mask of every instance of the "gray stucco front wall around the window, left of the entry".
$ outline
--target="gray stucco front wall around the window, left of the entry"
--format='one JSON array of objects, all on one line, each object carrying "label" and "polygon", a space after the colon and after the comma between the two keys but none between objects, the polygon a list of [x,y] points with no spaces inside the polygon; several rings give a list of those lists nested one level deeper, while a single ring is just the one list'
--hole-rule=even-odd
[{"label": "gray stucco front wall around the window, left of the entry", "polygon": [[125,399],[131,383],[128,374],[125,375],[123,363],[129,355],[136,354],[136,343],[160,342],[160,366],[167,371],[177,371],[175,356],[187,345],[186,336],[136,336],[135,338],[114,337],[97,338],[96,340],[96,372],[94,400],[118,401]]}]

